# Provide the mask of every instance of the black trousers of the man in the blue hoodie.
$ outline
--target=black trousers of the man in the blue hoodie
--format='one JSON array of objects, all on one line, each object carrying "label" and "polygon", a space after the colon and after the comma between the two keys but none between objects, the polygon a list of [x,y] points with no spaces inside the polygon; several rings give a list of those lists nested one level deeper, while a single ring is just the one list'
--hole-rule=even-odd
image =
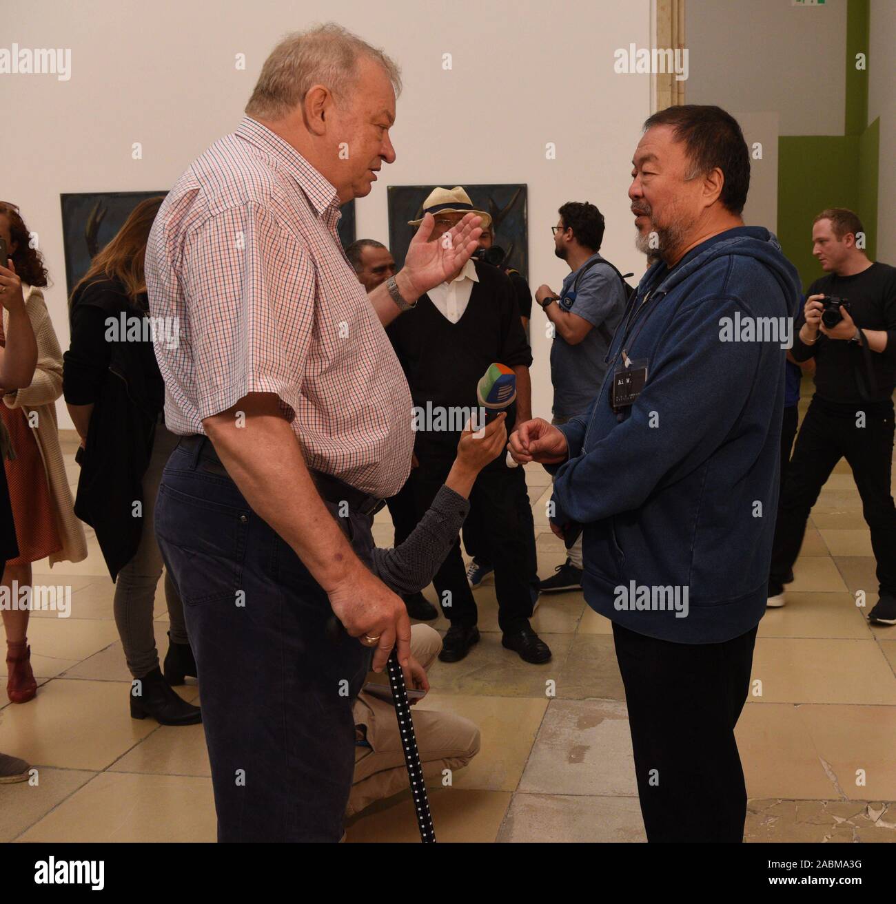
[{"label": "black trousers of the man in the blue hoodie", "polygon": [[613,625],[649,842],[742,842],[747,788],[734,727],[756,628],[673,644]]}]

